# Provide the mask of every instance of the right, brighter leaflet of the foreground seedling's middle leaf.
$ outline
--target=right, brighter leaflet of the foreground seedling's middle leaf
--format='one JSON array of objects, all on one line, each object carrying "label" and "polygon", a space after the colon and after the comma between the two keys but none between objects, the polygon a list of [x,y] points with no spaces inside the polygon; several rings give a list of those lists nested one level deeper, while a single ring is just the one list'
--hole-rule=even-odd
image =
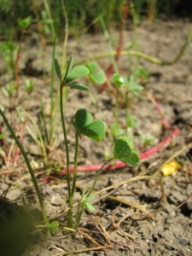
[{"label": "right, brighter leaflet of the foreground seedling's middle leaf", "polygon": [[100,142],[106,134],[106,125],[102,120],[96,120],[90,125],[85,126],[81,130],[81,133],[86,137],[90,137],[91,139]]}]

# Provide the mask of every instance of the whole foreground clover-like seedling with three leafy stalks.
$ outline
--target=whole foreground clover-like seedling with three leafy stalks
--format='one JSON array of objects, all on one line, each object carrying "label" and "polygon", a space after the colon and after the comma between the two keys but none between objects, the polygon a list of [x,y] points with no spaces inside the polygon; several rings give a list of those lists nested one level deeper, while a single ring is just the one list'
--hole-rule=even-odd
[{"label": "whole foreground clover-like seedling with three leafy stalks", "polygon": [[[100,172],[97,172],[96,178],[92,184],[92,187],[90,188],[90,191],[88,194],[85,195],[86,189],[82,192],[81,201],[79,202],[79,208],[76,215],[76,223],[73,225],[73,195],[75,192],[75,186],[76,186],[76,180],[77,180],[77,166],[78,166],[78,151],[79,151],[79,138],[81,139],[84,135],[85,137],[89,137],[90,139],[93,139],[97,142],[100,142],[103,137],[106,134],[106,125],[105,123],[99,119],[94,120],[93,116],[89,111],[85,108],[80,108],[75,113],[73,119],[71,120],[73,128],[75,130],[75,152],[74,152],[74,167],[73,167],[73,182],[72,185],[70,183],[71,181],[71,175],[70,175],[70,166],[69,166],[69,152],[68,152],[68,143],[67,143],[67,131],[66,131],[66,124],[64,119],[64,113],[63,113],[63,102],[62,102],[62,90],[65,87],[70,87],[72,89],[77,90],[89,90],[89,88],[83,84],[77,84],[73,81],[75,79],[79,79],[83,77],[84,75],[89,75],[90,73],[94,74],[96,72],[96,66],[90,65],[90,67],[94,68],[88,68],[83,66],[77,66],[73,68],[73,61],[74,57],[71,56],[70,60],[67,63],[67,70],[64,76],[61,75],[61,68],[57,60],[55,60],[55,72],[60,79],[60,95],[61,95],[61,122],[62,122],[62,128],[63,128],[63,135],[65,140],[65,148],[66,148],[66,154],[67,154],[67,189],[68,189],[68,207],[69,210],[67,212],[67,227],[69,229],[78,228],[79,222],[81,219],[81,215],[83,213],[84,207],[88,211],[93,211],[95,207],[90,203],[94,200],[95,195],[92,195],[93,190],[96,186],[96,181],[101,174],[104,167],[114,159],[122,160],[126,162],[127,164],[131,166],[137,166],[139,163],[139,155],[137,151],[132,150],[133,143],[132,141],[127,137],[120,137],[119,140],[115,143],[114,146],[114,152],[113,157],[109,159],[101,168]],[[96,81],[96,79],[93,79]]]}]

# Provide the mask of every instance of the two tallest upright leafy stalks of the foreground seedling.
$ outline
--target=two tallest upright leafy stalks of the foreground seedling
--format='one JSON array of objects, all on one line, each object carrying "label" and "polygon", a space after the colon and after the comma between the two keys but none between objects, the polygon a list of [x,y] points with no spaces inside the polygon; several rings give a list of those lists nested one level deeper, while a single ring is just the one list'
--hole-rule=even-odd
[{"label": "two tallest upright leafy stalks of the foreground seedling", "polygon": [[[79,109],[72,120],[73,127],[75,129],[75,153],[74,153],[74,171],[73,171],[73,184],[71,188],[71,175],[69,170],[69,152],[68,152],[68,143],[67,143],[67,131],[66,124],[63,113],[63,97],[62,90],[65,87],[77,90],[89,90],[89,87],[83,84],[74,83],[75,79],[79,79],[88,75],[90,69],[88,67],[77,66],[73,68],[74,57],[71,56],[70,60],[67,63],[67,70],[62,78],[61,67],[58,61],[55,59],[55,72],[60,79],[60,108],[61,108],[61,123],[62,130],[65,140],[66,154],[67,154],[67,189],[68,189],[68,207],[70,209],[67,212],[67,227],[73,229],[73,195],[75,191],[76,179],[77,179],[77,165],[78,165],[78,150],[79,150],[79,138],[82,135],[90,137],[93,140],[101,141],[106,133],[106,127],[102,120],[93,120],[93,116],[86,109]],[[72,69],[73,68],[73,69]]]}]

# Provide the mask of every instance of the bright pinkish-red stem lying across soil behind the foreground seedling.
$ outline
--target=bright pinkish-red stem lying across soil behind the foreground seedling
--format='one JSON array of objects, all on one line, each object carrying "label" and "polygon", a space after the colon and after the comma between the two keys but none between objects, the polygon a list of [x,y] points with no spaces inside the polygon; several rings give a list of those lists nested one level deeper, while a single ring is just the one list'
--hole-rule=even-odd
[{"label": "bright pinkish-red stem lying across soil behind the foreground seedling", "polygon": [[[172,141],[172,138],[176,137],[179,133],[180,133],[180,130],[177,127],[175,127],[175,130],[172,131],[172,133],[170,134],[169,137],[166,137],[166,139],[161,141],[157,146],[150,148],[147,151],[141,153],[140,159],[141,160],[148,159],[151,155],[160,151],[160,148],[163,148],[168,143],[170,143]],[[106,166],[106,168],[104,170],[110,171],[110,170],[119,169],[119,168],[122,168],[125,166],[127,166],[125,163],[118,160],[115,165],[108,165],[108,166]],[[102,164],[96,164],[96,165],[90,165],[90,166],[78,166],[77,171],[78,172],[96,172],[96,171],[99,171],[99,169],[101,167],[102,167]],[[70,167],[70,172],[73,172],[73,167]],[[67,174],[67,170],[66,170],[66,168],[64,168],[64,170],[62,172],[60,172],[58,176],[61,177],[66,174]]]}]

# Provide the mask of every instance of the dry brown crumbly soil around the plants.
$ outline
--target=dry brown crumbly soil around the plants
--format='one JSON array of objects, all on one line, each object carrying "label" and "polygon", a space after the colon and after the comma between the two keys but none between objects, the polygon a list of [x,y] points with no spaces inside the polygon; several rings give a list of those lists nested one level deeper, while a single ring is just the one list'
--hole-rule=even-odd
[{"label": "dry brown crumbly soil around the plants", "polygon": [[[155,20],[153,24],[143,21],[137,27],[137,42],[139,50],[148,55],[154,56],[164,61],[172,61],[179,53],[185,38],[189,32],[188,20]],[[131,24],[127,24],[124,32],[124,47],[134,39]],[[114,46],[118,42],[119,32],[111,31],[110,38],[114,40]],[[75,61],[81,61],[90,55],[98,55],[107,52],[107,44],[102,34],[85,34],[82,38],[69,38],[67,43],[67,55],[72,53]],[[49,90],[50,90],[50,67],[51,67],[52,46],[47,45],[46,55],[42,61],[36,41],[26,38],[20,55],[20,69],[23,75],[20,76],[20,96],[14,98],[11,104],[8,98],[3,96],[0,90],[0,103],[5,107],[5,114],[20,136],[22,124],[17,117],[15,107],[19,106],[25,116],[27,110],[27,96],[24,90],[25,79],[32,79],[35,89],[32,93],[29,113],[42,127],[40,114],[40,100],[42,99],[49,115]],[[56,47],[56,58],[61,61],[61,44]],[[16,166],[11,162],[9,166],[4,166],[1,160],[0,176],[0,221],[2,222],[0,240],[1,255],[64,255],[64,252],[78,249],[96,247],[86,234],[93,237],[100,246],[109,246],[105,250],[94,250],[81,252],[79,255],[165,255],[181,256],[192,255],[192,173],[191,159],[192,152],[189,144],[192,142],[192,48],[187,47],[181,60],[173,66],[158,66],[144,59],[140,59],[140,67],[145,68],[151,75],[143,90],[141,98],[131,99],[130,113],[135,115],[138,122],[137,128],[130,131],[134,138],[136,148],[140,152],[147,150],[143,148],[140,134],[147,137],[154,136],[154,145],[171,133],[166,131],[162,124],[159,113],[154,108],[154,104],[147,95],[149,91],[159,102],[160,108],[166,119],[172,125],[177,125],[181,130],[180,134],[173,138],[172,143],[162,148],[159,153],[152,155],[149,159],[143,160],[138,168],[126,166],[115,171],[102,173],[96,184],[96,190],[106,188],[110,185],[127,180],[138,175],[150,174],[151,179],[125,183],[116,189],[108,190],[115,198],[106,194],[96,197],[96,212],[84,212],[76,240],[71,236],[66,236],[64,230],[59,230],[54,236],[44,237],[38,235],[31,236],[33,218],[35,222],[41,222],[41,214],[38,211],[38,200],[32,187],[32,181],[27,173],[26,165],[22,157]],[[134,67],[134,58],[132,65]],[[27,60],[32,59],[31,65],[27,66]],[[103,70],[107,70],[110,64],[109,58],[103,58],[98,63]],[[126,55],[119,59],[119,72],[128,74],[129,61]],[[11,81],[9,73],[5,72],[3,59],[0,61],[2,77],[0,79],[1,88],[5,88]],[[42,73],[45,73],[45,76]],[[84,80],[87,84],[88,81]],[[55,93],[56,85],[55,81]],[[74,113],[79,108],[87,108],[93,113],[94,118],[102,119],[109,126],[114,122],[113,108],[115,97],[107,87],[102,93],[98,92],[98,87],[90,84],[92,93],[96,100],[96,107],[90,101],[88,92],[70,90],[67,94],[66,118],[68,124]],[[22,108],[21,108],[22,107]],[[125,127],[125,105],[120,104],[119,123]],[[0,119],[3,125],[3,119]],[[61,125],[58,120],[58,131],[55,136],[55,147],[49,148],[49,168],[44,166],[44,159],[41,149],[34,143],[32,137],[26,131],[23,145],[32,161],[33,168],[37,173],[38,182],[44,196],[46,210],[49,218],[57,220],[61,226],[66,225],[66,215],[62,214],[67,207],[67,184],[66,177],[53,178],[53,175],[62,171],[65,166],[65,150],[61,133]],[[27,121],[27,125],[36,132],[34,126]],[[70,159],[73,164],[74,139],[72,127],[68,130],[68,141],[70,148]],[[41,128],[42,129],[42,128]],[[3,125],[3,131],[6,131]],[[7,131],[6,131],[7,132]],[[43,132],[43,131],[42,131]],[[7,132],[7,141],[12,143]],[[13,145],[13,151],[15,150]],[[102,163],[105,160],[105,153],[113,152],[113,146],[108,136],[103,142],[96,143],[88,138],[80,141],[79,165],[90,165]],[[172,176],[161,177],[160,166],[166,160],[177,154],[182,168]],[[173,158],[175,159],[175,158]],[[49,183],[45,183],[45,177],[49,175]],[[90,186],[95,177],[95,172],[79,172],[77,193],[75,201],[80,199],[80,189]],[[119,203],[118,199],[124,202]],[[131,204],[133,206],[131,207]],[[27,206],[24,207],[23,205]],[[17,206],[17,207],[15,207]],[[140,207],[140,211],[136,209]],[[27,209],[30,209],[26,211]],[[36,209],[36,210],[34,210]],[[27,214],[26,214],[27,212]],[[28,217],[30,212],[30,217]],[[61,215],[60,215],[61,213]],[[22,215],[23,214],[23,215]],[[127,218],[122,218],[127,215]],[[32,216],[32,218],[31,218]],[[114,224],[122,220],[119,230],[114,229]],[[28,224],[30,223],[30,224]],[[114,223],[114,224],[113,224]],[[22,229],[25,227],[24,229]],[[102,230],[103,229],[103,230]],[[90,230],[90,231],[88,231]],[[104,231],[106,230],[106,231]],[[90,233],[89,233],[90,232]],[[12,234],[12,235],[11,235]],[[65,236],[64,236],[65,235]],[[107,238],[106,238],[107,237]],[[26,249],[27,247],[27,249]],[[74,253],[68,253],[74,255]]]}]

